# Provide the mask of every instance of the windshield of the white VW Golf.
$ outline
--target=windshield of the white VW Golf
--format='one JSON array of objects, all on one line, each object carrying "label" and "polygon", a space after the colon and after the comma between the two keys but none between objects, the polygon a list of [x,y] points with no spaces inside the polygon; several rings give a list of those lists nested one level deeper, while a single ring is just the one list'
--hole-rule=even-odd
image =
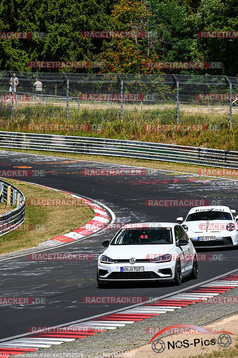
[{"label": "windshield of the white VW Golf", "polygon": [[122,229],[114,237],[111,245],[169,245],[171,243],[173,243],[171,228]]}]

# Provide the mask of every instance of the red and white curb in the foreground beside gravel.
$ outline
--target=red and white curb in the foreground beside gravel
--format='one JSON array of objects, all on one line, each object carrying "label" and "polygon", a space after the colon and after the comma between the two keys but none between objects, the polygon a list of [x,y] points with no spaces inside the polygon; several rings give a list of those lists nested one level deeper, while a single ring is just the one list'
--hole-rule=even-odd
[{"label": "red and white curb in the foreground beside gravel", "polygon": [[[177,295],[154,301],[156,303],[150,302],[132,309],[126,309],[120,313],[105,314],[99,318],[60,327],[60,329],[52,328],[48,332],[42,333],[41,331],[30,336],[28,334],[28,337],[25,338],[1,342],[0,354],[4,354],[4,357],[12,354],[24,354],[34,352],[40,348],[49,348],[52,345],[85,338],[98,332],[106,332],[108,329],[116,329],[152,316],[195,305],[197,302],[225,293],[235,287],[238,287],[238,273],[230,274]],[[55,332],[55,330],[61,332]]]}]

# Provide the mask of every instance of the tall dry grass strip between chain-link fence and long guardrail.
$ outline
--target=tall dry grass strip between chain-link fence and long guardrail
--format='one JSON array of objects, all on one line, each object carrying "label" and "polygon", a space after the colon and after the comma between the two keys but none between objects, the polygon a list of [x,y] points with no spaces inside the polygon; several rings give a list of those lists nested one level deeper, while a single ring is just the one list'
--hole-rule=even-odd
[{"label": "tall dry grass strip between chain-link fence and long guardrail", "polygon": [[[72,109],[69,120],[65,119],[65,108],[60,106],[39,106],[19,108],[14,117],[9,118],[1,113],[0,130],[29,132],[29,124],[88,124],[90,130],[64,131],[50,130],[35,133],[61,134],[111,139],[139,140],[178,144],[184,146],[209,147],[213,149],[238,150],[238,116],[234,116],[232,129],[229,127],[228,115],[186,113],[181,110],[179,123],[182,125],[218,125],[214,131],[146,131],[146,125],[176,124],[177,113],[174,109],[145,110],[143,112],[124,110],[123,118],[115,109],[93,110]],[[31,131],[32,132],[32,131]]]}]

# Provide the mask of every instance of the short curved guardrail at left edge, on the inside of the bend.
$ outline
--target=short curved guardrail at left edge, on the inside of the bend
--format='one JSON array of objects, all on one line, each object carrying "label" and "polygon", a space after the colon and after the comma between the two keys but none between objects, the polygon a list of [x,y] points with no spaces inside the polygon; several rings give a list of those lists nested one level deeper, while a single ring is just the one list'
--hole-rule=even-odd
[{"label": "short curved guardrail at left edge, on the inside of the bend", "polygon": [[25,220],[25,197],[13,185],[0,179],[0,203],[16,205],[16,208],[0,215],[0,236],[19,227]]}]

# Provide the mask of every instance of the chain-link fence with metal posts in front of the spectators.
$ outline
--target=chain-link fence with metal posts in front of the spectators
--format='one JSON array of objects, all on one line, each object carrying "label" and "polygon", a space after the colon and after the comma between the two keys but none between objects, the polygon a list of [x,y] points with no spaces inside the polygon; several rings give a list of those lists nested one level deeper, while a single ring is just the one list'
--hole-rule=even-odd
[{"label": "chain-link fence with metal posts in front of the spectators", "polygon": [[[15,73],[15,75],[14,75]],[[167,111],[181,117],[216,116],[237,123],[238,78],[173,74],[77,74],[0,72],[0,117],[13,118],[32,108],[57,106],[67,120],[76,110]],[[37,83],[34,85],[36,82]],[[13,85],[12,85],[13,84]],[[42,87],[41,87],[42,85]],[[54,116],[54,107],[51,110]]]}]

